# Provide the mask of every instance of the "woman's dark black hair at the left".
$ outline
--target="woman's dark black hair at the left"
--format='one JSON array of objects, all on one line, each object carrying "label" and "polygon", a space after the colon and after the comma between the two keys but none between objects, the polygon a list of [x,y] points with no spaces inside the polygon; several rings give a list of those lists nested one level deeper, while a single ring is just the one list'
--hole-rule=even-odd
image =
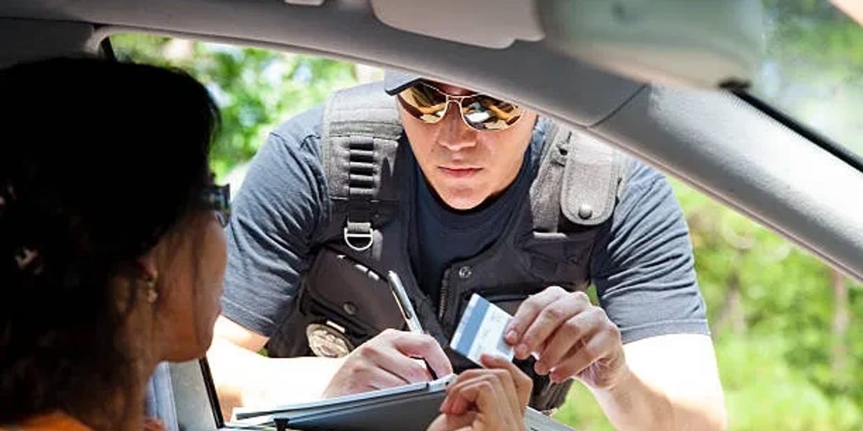
[{"label": "woman's dark black hair at the left", "polygon": [[183,72],[102,59],[0,72],[0,424],[123,386],[110,281],[192,214],[217,122]]}]

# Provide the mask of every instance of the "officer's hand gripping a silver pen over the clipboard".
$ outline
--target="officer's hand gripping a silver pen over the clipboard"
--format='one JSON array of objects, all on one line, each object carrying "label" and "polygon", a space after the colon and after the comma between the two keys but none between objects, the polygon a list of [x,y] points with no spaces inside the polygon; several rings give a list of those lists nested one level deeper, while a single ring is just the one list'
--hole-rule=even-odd
[{"label": "officer's hand gripping a silver pen over the clipboard", "polygon": [[450,359],[430,335],[387,329],[345,357],[324,397],[430,381],[431,373],[417,359],[425,359],[438,376],[452,373]]}]

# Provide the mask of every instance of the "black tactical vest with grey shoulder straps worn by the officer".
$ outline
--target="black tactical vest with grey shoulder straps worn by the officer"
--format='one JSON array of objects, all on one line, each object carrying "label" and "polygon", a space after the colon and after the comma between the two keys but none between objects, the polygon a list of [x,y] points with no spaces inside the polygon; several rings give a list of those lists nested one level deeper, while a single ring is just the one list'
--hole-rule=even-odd
[{"label": "black tactical vest with grey shoulder straps worn by the officer", "polygon": [[[501,238],[450,265],[440,300],[431,303],[408,257],[415,186],[423,179],[410,147],[399,145],[406,141],[396,103],[381,84],[367,84],[338,91],[326,105],[321,157],[331,222],[286,322],[268,343],[271,356],[338,357],[385,328],[406,330],[387,284],[391,270],[400,274],[423,327],[457,372],[476,366],[449,349],[473,293],[513,314],[526,297],[548,286],[589,285],[592,246],[610,226],[627,157],[551,122],[536,177]],[[531,405],[556,409],[571,381],[551,384],[533,372],[533,362],[516,361],[533,378]]]}]

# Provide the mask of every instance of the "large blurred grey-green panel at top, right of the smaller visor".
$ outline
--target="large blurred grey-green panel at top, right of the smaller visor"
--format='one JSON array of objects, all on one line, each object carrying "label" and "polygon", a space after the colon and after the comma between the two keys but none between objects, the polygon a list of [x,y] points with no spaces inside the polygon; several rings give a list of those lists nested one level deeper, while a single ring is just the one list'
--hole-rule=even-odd
[{"label": "large blurred grey-green panel at top, right of the smaller visor", "polygon": [[545,43],[656,84],[746,84],[764,50],[760,0],[545,0]]}]

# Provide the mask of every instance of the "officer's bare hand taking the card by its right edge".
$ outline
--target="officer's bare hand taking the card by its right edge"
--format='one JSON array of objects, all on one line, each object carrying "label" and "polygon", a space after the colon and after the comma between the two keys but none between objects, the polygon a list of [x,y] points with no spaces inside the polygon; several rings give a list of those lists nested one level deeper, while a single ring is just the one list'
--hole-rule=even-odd
[{"label": "officer's bare hand taking the card by its right edge", "polygon": [[521,303],[507,329],[515,356],[538,358],[534,370],[551,381],[578,378],[608,389],[626,372],[620,329],[583,292],[551,286]]}]

